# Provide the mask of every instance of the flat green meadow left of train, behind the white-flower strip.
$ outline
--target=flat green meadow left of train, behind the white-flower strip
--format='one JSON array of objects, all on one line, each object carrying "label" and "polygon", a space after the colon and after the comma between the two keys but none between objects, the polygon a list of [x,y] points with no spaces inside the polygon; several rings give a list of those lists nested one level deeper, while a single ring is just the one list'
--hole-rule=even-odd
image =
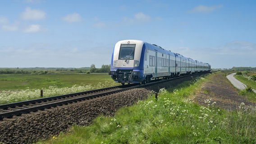
[{"label": "flat green meadow left of train, behind the white-flower strip", "polygon": [[72,87],[73,85],[97,85],[113,82],[107,73],[77,74],[61,73],[46,75],[0,74],[0,90],[41,89],[49,86]]}]

